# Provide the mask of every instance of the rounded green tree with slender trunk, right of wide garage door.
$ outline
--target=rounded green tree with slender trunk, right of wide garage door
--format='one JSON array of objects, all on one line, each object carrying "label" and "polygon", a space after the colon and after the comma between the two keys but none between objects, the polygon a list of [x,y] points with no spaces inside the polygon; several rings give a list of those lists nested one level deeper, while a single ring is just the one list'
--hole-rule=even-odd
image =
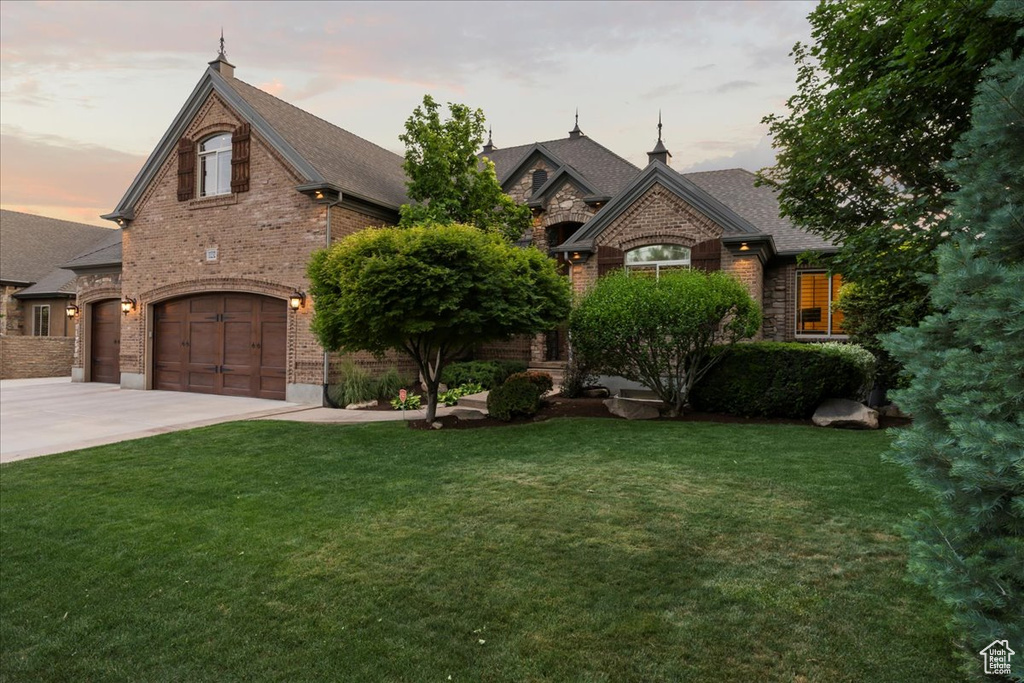
[{"label": "rounded green tree with slender trunk, right of wide garage door", "polygon": [[468,225],[361,230],[314,253],[308,275],[324,347],[408,354],[427,386],[428,421],[449,361],[548,330],[569,308],[553,260]]}]

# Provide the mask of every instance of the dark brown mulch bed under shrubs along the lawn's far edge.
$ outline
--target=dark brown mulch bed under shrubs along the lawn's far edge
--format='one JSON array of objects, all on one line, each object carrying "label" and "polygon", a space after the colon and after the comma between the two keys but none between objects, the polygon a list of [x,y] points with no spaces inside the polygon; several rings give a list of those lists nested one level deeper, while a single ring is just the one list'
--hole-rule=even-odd
[{"label": "dark brown mulch bed under shrubs along the lawn's far edge", "polygon": [[[510,422],[495,420],[494,418],[483,418],[482,420],[460,420],[454,415],[437,418],[435,422],[441,423],[441,429],[479,429],[481,427],[508,427],[510,425],[521,425],[530,422],[544,422],[552,418],[604,418],[607,420],[623,420],[608,413],[601,398],[564,398],[562,396],[551,396],[546,398],[541,411],[531,418],[517,418]],[[390,410],[390,405],[388,407]],[[372,410],[372,409],[371,409]],[[724,413],[698,413],[687,412],[678,418],[662,417],[657,422],[722,422],[727,424],[744,425],[804,425],[811,426],[810,420],[792,420],[788,418],[741,418],[735,415]],[[433,429],[430,423],[425,420],[410,421],[410,429]],[[882,429],[888,427],[903,427],[910,424],[909,420],[901,418],[881,417],[879,426]]]}]

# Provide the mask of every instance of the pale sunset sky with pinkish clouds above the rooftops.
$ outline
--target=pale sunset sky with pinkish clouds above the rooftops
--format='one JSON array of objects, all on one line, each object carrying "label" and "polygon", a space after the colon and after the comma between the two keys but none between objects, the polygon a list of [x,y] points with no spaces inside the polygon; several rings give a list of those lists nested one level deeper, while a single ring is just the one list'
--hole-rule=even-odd
[{"label": "pale sunset sky with pinkish clouds above the rooftops", "polygon": [[0,205],[98,225],[217,52],[236,77],[395,153],[425,93],[499,147],[583,131],[638,166],[772,163],[813,2],[0,3]]}]

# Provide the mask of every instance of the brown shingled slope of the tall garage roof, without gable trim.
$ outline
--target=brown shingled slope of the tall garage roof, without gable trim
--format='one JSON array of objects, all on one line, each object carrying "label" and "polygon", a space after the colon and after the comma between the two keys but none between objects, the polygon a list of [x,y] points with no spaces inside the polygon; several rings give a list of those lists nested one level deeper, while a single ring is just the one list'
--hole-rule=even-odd
[{"label": "brown shingled slope of the tall garage roof, without gable trim", "polygon": [[237,78],[225,78],[330,182],[397,209],[409,203],[402,158]]}]

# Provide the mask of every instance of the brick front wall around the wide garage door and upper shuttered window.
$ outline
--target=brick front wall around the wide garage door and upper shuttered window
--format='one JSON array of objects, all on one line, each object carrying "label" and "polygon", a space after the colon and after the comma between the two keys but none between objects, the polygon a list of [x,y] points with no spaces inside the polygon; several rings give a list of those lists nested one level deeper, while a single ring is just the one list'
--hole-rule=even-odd
[{"label": "brick front wall around the wide garage door and upper shuttered window", "polygon": [[[185,135],[195,141],[242,120],[211,94]],[[296,191],[298,175],[253,131],[248,193],[177,199],[177,155],[146,188],[123,231],[121,292],[137,305],[122,319],[121,372],[147,375],[153,304],[203,292],[236,291],[286,299],[308,292],[306,264],[325,245],[327,208]],[[334,240],[383,221],[347,207],[331,209]],[[207,258],[207,250],[216,257]],[[289,309],[289,384],[324,382],[323,348],[309,329],[313,304]]]}]

